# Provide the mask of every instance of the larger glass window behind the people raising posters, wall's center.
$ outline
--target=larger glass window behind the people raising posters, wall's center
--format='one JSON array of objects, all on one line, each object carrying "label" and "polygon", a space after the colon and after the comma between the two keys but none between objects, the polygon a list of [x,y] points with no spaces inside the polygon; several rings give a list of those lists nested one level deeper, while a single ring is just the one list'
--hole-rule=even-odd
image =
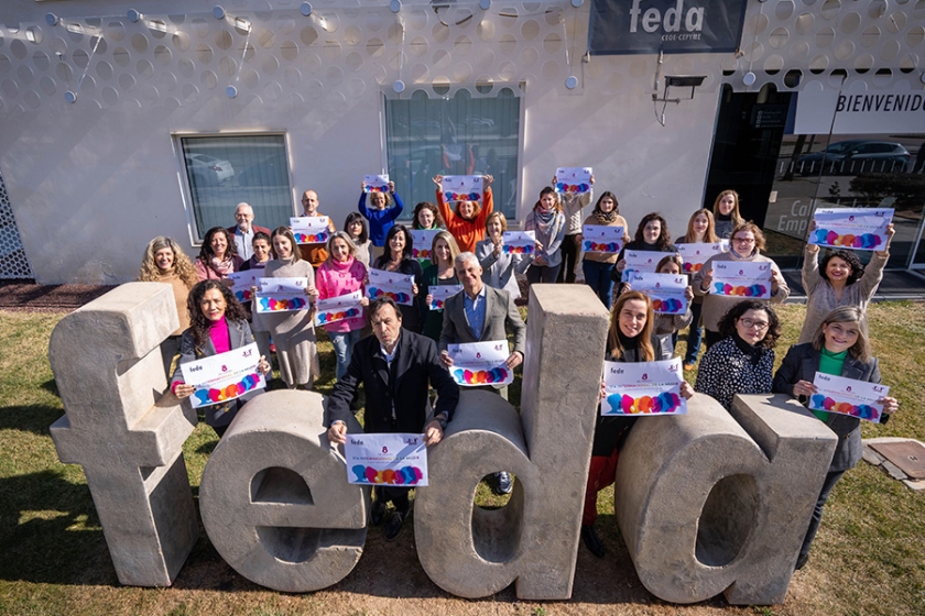
[{"label": "larger glass window behind the people raising posters, wall's center", "polygon": [[[410,219],[420,201],[434,202],[436,175],[491,175],[494,209],[516,215],[520,98],[502,88],[494,98],[385,100],[389,176]],[[371,174],[376,169],[368,173]]]}]

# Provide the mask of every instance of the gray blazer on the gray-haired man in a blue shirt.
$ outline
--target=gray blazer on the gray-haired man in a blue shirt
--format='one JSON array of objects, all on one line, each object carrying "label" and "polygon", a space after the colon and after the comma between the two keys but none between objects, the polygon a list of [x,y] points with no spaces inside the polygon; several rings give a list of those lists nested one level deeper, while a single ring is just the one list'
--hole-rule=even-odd
[{"label": "gray blazer on the gray-haired man in a blue shirt", "polygon": [[520,318],[514,300],[507,290],[496,289],[488,285],[485,288],[485,323],[481,336],[472,336],[469,321],[466,319],[464,297],[460,292],[447,298],[444,306],[444,327],[440,331],[440,351],[446,351],[449,344],[467,342],[485,342],[489,340],[507,340],[505,323],[514,331],[514,351],[524,354],[526,340],[526,324]]}]

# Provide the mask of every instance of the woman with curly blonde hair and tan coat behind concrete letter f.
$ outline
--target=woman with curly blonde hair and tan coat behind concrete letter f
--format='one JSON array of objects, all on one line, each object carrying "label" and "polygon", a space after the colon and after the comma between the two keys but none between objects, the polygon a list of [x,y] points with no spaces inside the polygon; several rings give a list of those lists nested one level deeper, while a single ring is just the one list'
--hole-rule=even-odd
[{"label": "woman with curly blonde hair and tan coat behind concrete letter f", "polygon": [[186,298],[189,296],[189,289],[198,282],[196,268],[176,242],[159,235],[148,242],[148,248],[144,249],[138,279],[143,283],[166,283],[174,292],[179,328],[161,343],[164,373],[167,374],[174,356],[179,352],[179,337],[183,330],[189,327]]}]

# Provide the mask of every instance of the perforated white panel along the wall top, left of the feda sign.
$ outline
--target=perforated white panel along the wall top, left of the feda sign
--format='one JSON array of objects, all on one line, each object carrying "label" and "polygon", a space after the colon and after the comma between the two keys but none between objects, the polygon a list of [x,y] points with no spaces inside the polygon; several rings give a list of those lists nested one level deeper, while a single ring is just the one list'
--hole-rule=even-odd
[{"label": "perforated white panel along the wall top, left of the feda sign", "polygon": [[537,79],[566,94],[583,87],[587,3],[494,2],[482,10],[478,2],[417,1],[395,13],[389,2],[338,1],[315,2],[309,15],[292,0],[237,4],[221,19],[211,2],[183,0],[155,3],[176,13],[137,22],[61,16],[55,25],[0,28],[0,111],[70,98],[100,108],[178,107],[229,95],[350,100],[401,84],[403,97],[459,88],[496,96]]}]

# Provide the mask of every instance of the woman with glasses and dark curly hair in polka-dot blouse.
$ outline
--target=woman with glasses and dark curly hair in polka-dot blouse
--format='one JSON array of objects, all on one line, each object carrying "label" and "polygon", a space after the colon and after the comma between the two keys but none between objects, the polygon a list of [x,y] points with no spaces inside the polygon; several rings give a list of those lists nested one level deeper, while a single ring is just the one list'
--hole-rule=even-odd
[{"label": "woman with glasses and dark curly hair in polka-dot blouse", "polygon": [[700,360],[694,391],[711,396],[729,410],[736,394],[770,394],[774,345],[781,323],[774,310],[758,299],[739,301],[719,321],[722,340]]}]

